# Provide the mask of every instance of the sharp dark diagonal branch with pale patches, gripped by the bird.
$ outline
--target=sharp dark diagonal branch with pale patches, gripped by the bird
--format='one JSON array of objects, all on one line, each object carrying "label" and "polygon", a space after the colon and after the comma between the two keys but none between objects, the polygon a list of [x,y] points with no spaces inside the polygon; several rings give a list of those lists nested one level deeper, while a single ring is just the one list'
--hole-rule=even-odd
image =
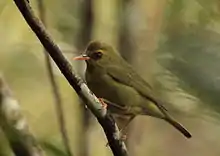
[{"label": "sharp dark diagonal branch with pale patches, gripped by the bird", "polygon": [[83,80],[73,72],[71,64],[65,59],[59,47],[46,32],[43,24],[34,15],[29,3],[26,0],[14,0],[14,2],[69,84],[98,119],[113,154],[115,156],[127,156],[126,146],[120,140],[118,127],[111,114],[102,107],[98,98],[91,92]]}]

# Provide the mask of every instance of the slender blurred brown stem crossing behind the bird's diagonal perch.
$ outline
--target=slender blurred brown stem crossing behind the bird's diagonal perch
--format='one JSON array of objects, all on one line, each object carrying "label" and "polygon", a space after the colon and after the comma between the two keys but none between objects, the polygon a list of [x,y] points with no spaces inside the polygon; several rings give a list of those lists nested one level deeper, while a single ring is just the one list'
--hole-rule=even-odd
[{"label": "slender blurred brown stem crossing behind the bird's diagonal perch", "polygon": [[[44,26],[46,27],[46,17],[45,17],[45,8],[44,8],[43,0],[38,0],[38,9],[40,12],[40,19],[42,23],[44,24]],[[67,134],[66,122],[64,118],[64,110],[62,107],[62,100],[61,100],[61,96],[59,92],[59,86],[56,83],[56,80],[54,77],[53,68],[52,68],[52,64],[50,61],[50,56],[48,55],[45,49],[44,49],[44,54],[45,54],[46,67],[48,70],[48,77],[51,82],[52,92],[53,92],[54,99],[55,99],[56,114],[58,118],[60,133],[63,139],[63,144],[64,144],[67,154],[69,156],[73,156],[71,152],[70,141],[69,141],[68,134]]]}]

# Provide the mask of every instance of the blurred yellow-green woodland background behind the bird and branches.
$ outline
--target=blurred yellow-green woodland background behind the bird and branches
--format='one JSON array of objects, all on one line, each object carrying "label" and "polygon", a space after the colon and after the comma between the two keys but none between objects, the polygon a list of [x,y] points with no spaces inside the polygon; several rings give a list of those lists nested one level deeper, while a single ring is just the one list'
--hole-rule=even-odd
[{"label": "blurred yellow-green woodland background behind the bird and branches", "polygon": [[[38,0],[30,0],[37,15]],[[47,30],[72,57],[90,40],[112,44],[167,100],[193,137],[167,123],[136,118],[127,140],[135,156],[220,155],[219,0],[44,0]],[[111,155],[96,119],[53,64],[74,156]],[[48,155],[66,155],[43,48],[12,0],[0,1],[0,72],[19,101],[31,131]],[[1,133],[1,155],[11,155]],[[59,153],[59,152],[61,153]]]}]

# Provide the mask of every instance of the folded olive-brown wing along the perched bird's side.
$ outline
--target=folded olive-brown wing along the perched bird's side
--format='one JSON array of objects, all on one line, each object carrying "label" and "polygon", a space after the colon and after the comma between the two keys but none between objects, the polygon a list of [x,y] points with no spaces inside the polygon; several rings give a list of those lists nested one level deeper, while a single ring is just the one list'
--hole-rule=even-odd
[{"label": "folded olive-brown wing along the perched bird's side", "polygon": [[116,65],[108,66],[106,69],[108,75],[119,83],[133,87],[142,96],[153,102],[165,116],[168,116],[163,102],[153,94],[152,87],[129,64],[122,63],[122,67]]}]

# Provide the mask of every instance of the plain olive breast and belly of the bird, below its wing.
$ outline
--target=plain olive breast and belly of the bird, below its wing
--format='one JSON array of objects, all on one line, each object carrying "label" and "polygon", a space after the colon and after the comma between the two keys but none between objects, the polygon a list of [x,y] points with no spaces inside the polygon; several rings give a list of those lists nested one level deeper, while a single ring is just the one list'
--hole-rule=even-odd
[{"label": "plain olive breast and belly of the bird, below its wing", "polygon": [[141,96],[137,91],[127,85],[117,82],[108,74],[86,73],[88,87],[99,98],[105,98],[120,106],[138,105]]}]

